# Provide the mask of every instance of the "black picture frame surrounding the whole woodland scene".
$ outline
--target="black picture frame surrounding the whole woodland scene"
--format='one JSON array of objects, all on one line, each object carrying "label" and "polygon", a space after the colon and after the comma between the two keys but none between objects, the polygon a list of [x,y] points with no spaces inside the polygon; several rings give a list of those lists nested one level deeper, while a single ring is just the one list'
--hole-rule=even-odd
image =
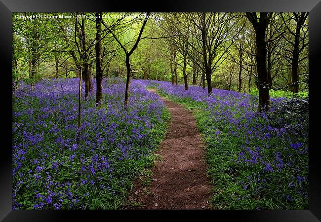
[{"label": "black picture frame surrounding the whole woodland scene", "polygon": [[[96,210],[12,210],[12,13],[13,12],[76,12],[76,11],[216,11],[216,12],[309,12],[309,210],[201,210],[201,211],[96,211]],[[203,220],[241,220],[271,222],[321,221],[321,167],[318,153],[318,128],[320,115],[318,81],[321,45],[320,0],[161,0],[159,2],[124,2],[111,0],[0,0],[0,61],[2,74],[2,139],[0,143],[0,220],[11,221],[76,221],[103,220],[158,221],[163,217],[180,214],[184,217]],[[145,214],[148,214],[145,217]],[[165,216],[166,215],[166,216]],[[112,216],[116,216],[112,219]],[[205,217],[208,216],[208,217]],[[209,219],[207,219],[209,218]],[[126,221],[127,221],[126,220]]]}]

